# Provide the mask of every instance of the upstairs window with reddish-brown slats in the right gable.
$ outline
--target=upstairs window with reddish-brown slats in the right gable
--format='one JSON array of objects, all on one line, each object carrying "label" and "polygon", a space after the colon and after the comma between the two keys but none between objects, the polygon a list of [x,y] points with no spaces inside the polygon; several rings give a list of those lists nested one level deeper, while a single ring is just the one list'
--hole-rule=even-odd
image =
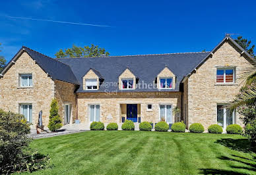
[{"label": "upstairs window with reddish-brown slats in the right gable", "polygon": [[234,83],[234,68],[217,68],[217,83]]}]

